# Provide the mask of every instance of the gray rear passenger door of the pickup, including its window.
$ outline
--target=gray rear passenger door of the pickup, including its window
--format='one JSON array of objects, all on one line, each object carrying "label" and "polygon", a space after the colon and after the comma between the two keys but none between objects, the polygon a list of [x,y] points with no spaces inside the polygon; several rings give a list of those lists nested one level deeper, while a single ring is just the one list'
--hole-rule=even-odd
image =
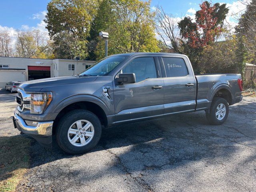
[{"label": "gray rear passenger door of the pickup, including its window", "polygon": [[185,56],[162,56],[165,71],[164,114],[190,112],[196,106],[196,79]]}]

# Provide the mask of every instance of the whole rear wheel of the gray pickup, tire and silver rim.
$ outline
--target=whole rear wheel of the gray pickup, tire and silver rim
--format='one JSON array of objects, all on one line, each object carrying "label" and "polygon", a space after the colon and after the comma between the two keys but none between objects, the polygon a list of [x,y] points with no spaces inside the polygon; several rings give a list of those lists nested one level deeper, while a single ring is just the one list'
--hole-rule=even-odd
[{"label": "whole rear wheel of the gray pickup, tire and silver rim", "polygon": [[209,111],[206,111],[206,119],[210,124],[221,125],[228,118],[228,102],[224,98],[214,98]]}]

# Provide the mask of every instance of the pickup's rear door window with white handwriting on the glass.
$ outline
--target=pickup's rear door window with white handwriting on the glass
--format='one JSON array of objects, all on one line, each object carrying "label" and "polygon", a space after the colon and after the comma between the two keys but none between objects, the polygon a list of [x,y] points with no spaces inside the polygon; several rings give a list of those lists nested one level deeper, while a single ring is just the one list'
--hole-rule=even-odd
[{"label": "pickup's rear door window with white handwriting on the glass", "polygon": [[188,75],[184,59],[177,57],[162,57],[166,77],[183,77]]}]

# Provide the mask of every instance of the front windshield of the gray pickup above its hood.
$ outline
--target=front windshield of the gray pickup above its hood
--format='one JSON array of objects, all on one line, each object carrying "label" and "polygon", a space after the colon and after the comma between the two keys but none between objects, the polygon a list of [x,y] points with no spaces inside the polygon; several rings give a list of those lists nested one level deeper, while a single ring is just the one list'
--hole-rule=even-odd
[{"label": "front windshield of the gray pickup above its hood", "polygon": [[106,76],[125,58],[126,56],[113,56],[104,58],[87,68],[79,76]]}]

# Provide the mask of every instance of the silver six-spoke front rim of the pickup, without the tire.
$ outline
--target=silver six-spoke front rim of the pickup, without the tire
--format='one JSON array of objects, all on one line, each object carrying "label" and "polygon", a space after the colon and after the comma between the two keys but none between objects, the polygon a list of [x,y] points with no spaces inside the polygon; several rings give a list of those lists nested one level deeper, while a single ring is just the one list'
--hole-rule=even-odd
[{"label": "silver six-spoke front rim of the pickup, without the tire", "polygon": [[85,146],[94,136],[94,126],[88,120],[78,120],[68,129],[68,140],[74,146]]}]

